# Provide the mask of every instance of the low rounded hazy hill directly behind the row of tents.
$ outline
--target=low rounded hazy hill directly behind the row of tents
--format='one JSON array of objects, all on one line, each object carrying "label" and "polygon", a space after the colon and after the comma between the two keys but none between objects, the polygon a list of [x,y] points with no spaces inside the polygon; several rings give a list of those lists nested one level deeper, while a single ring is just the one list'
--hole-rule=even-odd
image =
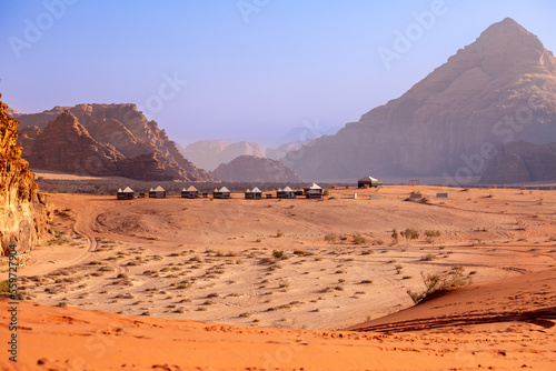
[{"label": "low rounded hazy hill directly behind the row of tents", "polygon": [[300,183],[302,179],[277,160],[256,156],[240,156],[221,163],[212,176],[222,181]]}]

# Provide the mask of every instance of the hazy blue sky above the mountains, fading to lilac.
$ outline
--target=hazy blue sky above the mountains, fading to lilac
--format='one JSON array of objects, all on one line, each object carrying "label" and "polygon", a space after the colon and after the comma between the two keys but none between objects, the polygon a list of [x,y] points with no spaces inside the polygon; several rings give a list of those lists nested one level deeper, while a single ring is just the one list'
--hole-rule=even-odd
[{"label": "hazy blue sky above the mountains, fading to lilac", "polygon": [[19,112],[136,103],[181,144],[270,143],[357,121],[506,17],[554,51],[555,16],[552,0],[0,0],[0,92]]}]

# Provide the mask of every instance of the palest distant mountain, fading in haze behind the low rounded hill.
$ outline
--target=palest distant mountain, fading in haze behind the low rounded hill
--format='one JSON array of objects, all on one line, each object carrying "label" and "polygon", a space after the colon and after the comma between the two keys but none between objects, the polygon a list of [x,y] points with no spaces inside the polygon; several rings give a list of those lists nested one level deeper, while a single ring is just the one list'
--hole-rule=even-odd
[{"label": "palest distant mountain, fading in haze behind the low rounded hill", "polygon": [[260,146],[254,142],[228,143],[224,140],[201,140],[183,149],[183,156],[195,166],[210,171],[220,163],[228,163],[244,154],[265,157]]}]

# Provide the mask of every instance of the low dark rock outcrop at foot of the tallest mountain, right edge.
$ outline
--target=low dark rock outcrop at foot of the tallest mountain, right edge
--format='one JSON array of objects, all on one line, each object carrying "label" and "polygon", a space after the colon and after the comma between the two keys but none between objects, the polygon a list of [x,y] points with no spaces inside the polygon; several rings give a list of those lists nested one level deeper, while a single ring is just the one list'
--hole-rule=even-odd
[{"label": "low dark rock outcrop at foot of the tallest mountain, right edge", "polygon": [[480,179],[485,184],[556,181],[556,143],[499,146]]}]

